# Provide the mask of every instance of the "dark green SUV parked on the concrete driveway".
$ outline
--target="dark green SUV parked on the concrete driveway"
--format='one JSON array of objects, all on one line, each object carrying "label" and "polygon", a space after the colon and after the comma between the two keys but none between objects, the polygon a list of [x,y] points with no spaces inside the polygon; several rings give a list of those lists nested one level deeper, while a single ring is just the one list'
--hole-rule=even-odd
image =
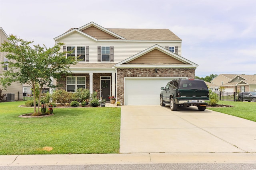
[{"label": "dark green SUV parked on the concrete driveway", "polygon": [[183,79],[172,80],[161,87],[160,105],[170,105],[172,111],[178,106],[197,106],[198,110],[204,111],[209,100],[209,90],[203,80]]}]

